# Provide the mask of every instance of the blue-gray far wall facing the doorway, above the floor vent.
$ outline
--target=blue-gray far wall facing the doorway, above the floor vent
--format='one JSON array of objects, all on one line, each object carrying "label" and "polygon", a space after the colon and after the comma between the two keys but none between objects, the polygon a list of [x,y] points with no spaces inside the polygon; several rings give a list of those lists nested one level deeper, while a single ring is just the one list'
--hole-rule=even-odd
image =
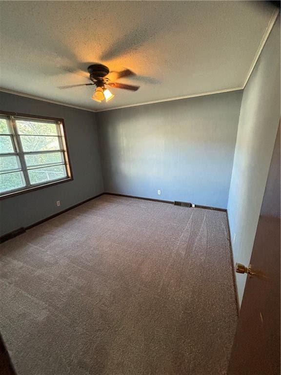
[{"label": "blue-gray far wall facing the doorway, above the floor vent", "polygon": [[99,112],[105,190],[226,208],[241,96]]}]

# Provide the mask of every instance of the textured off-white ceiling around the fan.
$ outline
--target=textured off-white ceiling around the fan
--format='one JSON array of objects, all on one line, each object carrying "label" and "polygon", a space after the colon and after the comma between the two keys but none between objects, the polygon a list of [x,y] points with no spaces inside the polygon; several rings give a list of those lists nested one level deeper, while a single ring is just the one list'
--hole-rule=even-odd
[{"label": "textured off-white ceiling around the fan", "polygon": [[[242,87],[275,11],[263,1],[0,1],[0,87],[100,110]],[[137,92],[91,100],[93,62]]]}]

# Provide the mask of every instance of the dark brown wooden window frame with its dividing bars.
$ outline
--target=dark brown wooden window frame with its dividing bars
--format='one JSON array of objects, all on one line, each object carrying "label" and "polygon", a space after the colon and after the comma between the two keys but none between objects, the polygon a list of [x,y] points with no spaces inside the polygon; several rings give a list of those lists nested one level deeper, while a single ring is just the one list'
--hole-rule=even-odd
[{"label": "dark brown wooden window frame with its dividing bars", "polygon": [[[70,163],[70,158],[69,158],[69,148],[68,148],[68,144],[67,144],[67,136],[66,136],[66,131],[65,131],[64,119],[56,118],[56,117],[30,115],[30,114],[18,113],[18,112],[6,112],[6,111],[1,111],[1,110],[0,110],[0,115],[8,117],[9,127],[10,127],[10,131],[11,131],[11,134],[9,134],[9,136],[11,137],[12,145],[13,145],[13,148],[14,148],[13,152],[8,152],[8,153],[5,153],[5,154],[3,153],[2,155],[3,156],[8,156],[8,155],[18,156],[19,162],[20,162],[20,169],[17,169],[17,170],[19,170],[23,173],[25,183],[26,183],[26,186],[24,186],[22,188],[16,188],[14,190],[9,190],[9,191],[3,192],[2,194],[0,194],[0,200],[5,199],[5,198],[9,198],[9,197],[12,197],[12,196],[24,194],[24,193],[27,193],[29,191],[34,191],[34,190],[42,189],[42,188],[45,188],[45,187],[50,187],[50,186],[62,184],[64,182],[73,181],[73,174],[72,174],[72,168],[71,168],[71,163]],[[29,154],[29,152],[28,151],[23,152],[23,149],[22,149],[22,146],[21,146],[21,141],[20,141],[20,136],[17,133],[17,127],[15,125],[16,119],[13,119],[13,117],[32,119],[32,120],[40,120],[40,121],[42,121],[42,120],[53,121],[53,122],[55,121],[55,122],[58,123],[56,125],[59,126],[60,133],[58,133],[58,136],[56,136],[56,137],[59,138],[60,150],[52,150],[52,151],[44,151],[44,152],[48,153],[48,152],[56,152],[57,151],[57,152],[62,153],[63,163],[54,164],[54,165],[65,166],[66,175],[67,175],[66,177],[64,177],[63,179],[53,180],[51,182],[40,182],[38,184],[32,184],[32,185],[30,184],[29,176],[28,176],[28,173],[27,173],[27,167],[26,167],[26,163],[25,163],[25,158],[24,158],[24,155]],[[33,155],[34,154],[40,154],[40,153],[42,153],[42,152],[40,152],[40,151],[30,152],[31,155],[32,154]],[[34,166],[32,166],[32,167],[34,168]],[[16,172],[17,170],[14,170],[14,171]]]}]

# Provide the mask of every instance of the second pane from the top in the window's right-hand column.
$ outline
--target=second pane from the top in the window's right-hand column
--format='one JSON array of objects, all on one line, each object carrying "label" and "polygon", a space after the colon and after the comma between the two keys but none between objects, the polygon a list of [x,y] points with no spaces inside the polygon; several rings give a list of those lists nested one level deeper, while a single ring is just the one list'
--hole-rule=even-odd
[{"label": "second pane from the top in the window's right-hand column", "polygon": [[20,140],[23,151],[48,151],[60,149],[58,137],[21,135]]}]

